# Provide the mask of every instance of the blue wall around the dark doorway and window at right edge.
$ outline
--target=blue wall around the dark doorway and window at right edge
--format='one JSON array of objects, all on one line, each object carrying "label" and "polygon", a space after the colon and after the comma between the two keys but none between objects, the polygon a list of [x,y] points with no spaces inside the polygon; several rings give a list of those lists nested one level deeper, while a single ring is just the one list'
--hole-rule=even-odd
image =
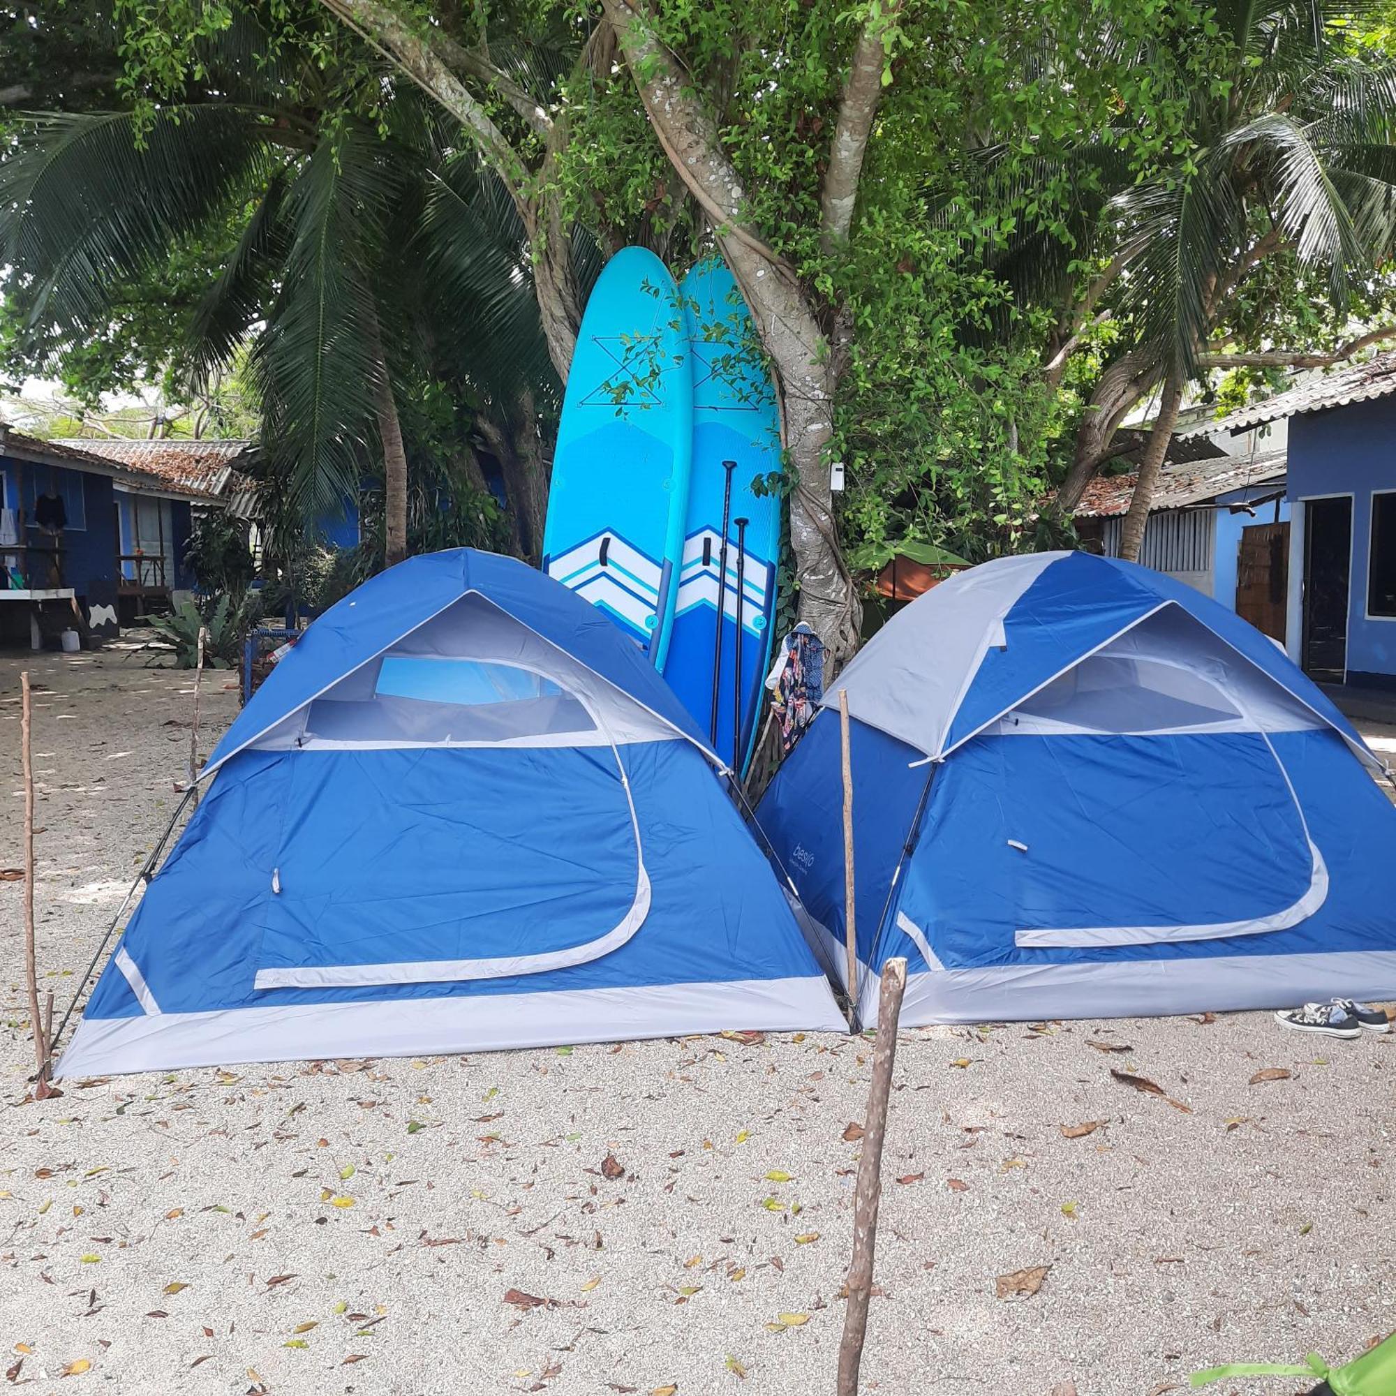
[{"label": "blue wall around the dark doorway and window at right edge", "polygon": [[1372,491],[1396,490],[1396,398],[1351,402],[1290,422],[1291,500],[1353,496],[1347,673],[1396,676],[1396,618],[1367,618]]}]

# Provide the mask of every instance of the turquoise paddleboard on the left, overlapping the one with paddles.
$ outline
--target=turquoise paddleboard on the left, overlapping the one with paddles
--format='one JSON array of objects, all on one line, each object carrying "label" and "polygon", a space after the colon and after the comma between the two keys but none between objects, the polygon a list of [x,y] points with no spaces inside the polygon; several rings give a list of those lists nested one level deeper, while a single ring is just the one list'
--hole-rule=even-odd
[{"label": "turquoise paddleboard on the left, overlapping the one with paddles", "polygon": [[567,377],[543,571],[663,664],[692,452],[692,371],[673,276],[644,247],[602,271]]}]

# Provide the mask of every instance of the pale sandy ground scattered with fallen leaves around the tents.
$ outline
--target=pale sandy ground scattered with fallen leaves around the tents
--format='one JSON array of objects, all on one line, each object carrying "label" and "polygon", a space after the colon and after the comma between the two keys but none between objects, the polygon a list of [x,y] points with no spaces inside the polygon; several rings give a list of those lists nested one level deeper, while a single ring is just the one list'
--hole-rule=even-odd
[{"label": "pale sandy ground scattered with fallen leaves around the tents", "polygon": [[[18,669],[0,659],[0,867],[20,863]],[[61,1011],[176,799],[190,681],[113,652],[31,669]],[[20,896],[0,884],[17,1386],[833,1390],[867,1041],[181,1071],[25,1103]],[[1159,1396],[1220,1360],[1356,1354],[1396,1328],[1393,1101],[1396,1036],[1261,1013],[905,1033],[864,1390]],[[1039,1293],[997,1297],[1034,1266]]]}]

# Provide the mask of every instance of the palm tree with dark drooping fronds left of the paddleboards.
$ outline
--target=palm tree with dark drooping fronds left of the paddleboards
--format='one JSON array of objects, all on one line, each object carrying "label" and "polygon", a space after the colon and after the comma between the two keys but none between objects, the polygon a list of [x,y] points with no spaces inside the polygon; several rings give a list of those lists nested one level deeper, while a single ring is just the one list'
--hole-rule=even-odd
[{"label": "palm tree with dark drooping fronds left of the paddleboards", "polygon": [[557,381],[507,201],[424,98],[362,46],[350,59],[272,46],[239,8],[187,101],[21,117],[0,151],[0,264],[42,355],[173,251],[223,257],[181,371],[207,381],[251,343],[267,469],[306,521],[381,461],[391,564],[403,384],[445,374],[491,410],[521,385],[546,409]]}]

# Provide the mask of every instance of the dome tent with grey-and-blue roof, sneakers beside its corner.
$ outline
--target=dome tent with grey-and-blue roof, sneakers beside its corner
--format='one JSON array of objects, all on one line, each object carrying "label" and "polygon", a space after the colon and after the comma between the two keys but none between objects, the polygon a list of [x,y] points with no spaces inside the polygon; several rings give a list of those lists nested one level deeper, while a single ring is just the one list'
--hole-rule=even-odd
[{"label": "dome tent with grey-and-blue roof, sneakers beside its corner", "polygon": [[[902,1020],[1396,997],[1385,773],[1279,648],[1189,586],[1007,557],[895,616],[852,718],[857,998]],[[821,712],[757,817],[843,965],[840,738]]]}]

